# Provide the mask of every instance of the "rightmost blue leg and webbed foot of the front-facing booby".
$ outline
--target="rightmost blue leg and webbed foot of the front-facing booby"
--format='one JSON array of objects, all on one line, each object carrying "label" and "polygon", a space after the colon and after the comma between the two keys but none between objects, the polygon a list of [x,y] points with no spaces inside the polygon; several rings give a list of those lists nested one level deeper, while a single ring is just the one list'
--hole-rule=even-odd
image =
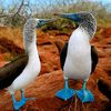
[{"label": "rightmost blue leg and webbed foot of the front-facing booby", "polygon": [[83,82],[82,89],[77,91],[77,95],[82,102],[93,102],[94,101],[94,97],[90,92],[90,90],[88,90],[85,88],[85,85],[87,85],[87,81]]}]

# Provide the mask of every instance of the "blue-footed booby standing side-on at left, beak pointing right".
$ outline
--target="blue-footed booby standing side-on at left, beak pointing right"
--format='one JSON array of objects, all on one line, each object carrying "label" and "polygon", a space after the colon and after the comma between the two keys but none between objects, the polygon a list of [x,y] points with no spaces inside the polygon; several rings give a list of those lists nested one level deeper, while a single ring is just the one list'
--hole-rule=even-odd
[{"label": "blue-footed booby standing side-on at left, beak pointing right", "polygon": [[[23,88],[32,82],[41,70],[36,43],[36,28],[40,28],[53,20],[54,19],[29,19],[23,27],[23,42],[27,56],[23,56],[0,69],[0,89],[8,88],[12,98],[14,110],[19,110],[22,105],[24,105],[27,100],[33,99],[24,98]],[[14,64],[16,67],[13,67]],[[22,99],[20,101],[16,101],[14,98],[14,92],[17,90],[21,91]]]}]

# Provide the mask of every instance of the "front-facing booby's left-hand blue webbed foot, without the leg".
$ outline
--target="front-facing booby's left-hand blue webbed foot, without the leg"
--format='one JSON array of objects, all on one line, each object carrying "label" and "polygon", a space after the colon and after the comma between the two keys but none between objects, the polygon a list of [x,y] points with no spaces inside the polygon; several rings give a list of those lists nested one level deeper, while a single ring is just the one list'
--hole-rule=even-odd
[{"label": "front-facing booby's left-hand blue webbed foot, without the leg", "polygon": [[75,93],[75,92],[74,92],[73,89],[67,89],[67,88],[64,88],[64,89],[58,91],[58,92],[56,93],[56,95],[57,95],[58,98],[60,98],[60,99],[67,101],[68,99],[72,98],[72,97],[74,95],[74,93]]}]

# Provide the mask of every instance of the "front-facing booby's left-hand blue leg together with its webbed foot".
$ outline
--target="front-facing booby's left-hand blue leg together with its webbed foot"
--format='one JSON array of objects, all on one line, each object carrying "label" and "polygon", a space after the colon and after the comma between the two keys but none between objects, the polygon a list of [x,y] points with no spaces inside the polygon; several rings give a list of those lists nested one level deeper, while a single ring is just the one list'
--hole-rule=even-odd
[{"label": "front-facing booby's left-hand blue leg together with its webbed foot", "polygon": [[75,91],[73,89],[69,88],[69,81],[68,79],[64,79],[64,89],[59,90],[56,95],[64,101],[72,98],[75,94]]}]

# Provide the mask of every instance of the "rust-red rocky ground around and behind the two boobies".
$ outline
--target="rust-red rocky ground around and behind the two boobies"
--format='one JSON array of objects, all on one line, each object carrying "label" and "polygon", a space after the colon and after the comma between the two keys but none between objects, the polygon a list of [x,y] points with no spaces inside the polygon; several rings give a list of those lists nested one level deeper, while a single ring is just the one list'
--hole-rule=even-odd
[{"label": "rust-red rocky ground around and behind the two boobies", "polygon": [[[21,111],[111,111],[110,100],[103,95],[97,85],[97,81],[103,78],[111,83],[111,28],[98,28],[97,34],[91,40],[91,44],[97,47],[99,63],[91,74],[87,88],[94,94],[93,103],[81,103],[77,97],[68,101],[56,98],[56,92],[63,88],[63,75],[60,68],[59,50],[56,46],[62,44],[69,39],[68,34],[58,31],[40,32],[38,34],[38,49],[41,60],[41,73],[33,83],[26,88],[26,97],[34,97],[34,101],[28,101]],[[10,48],[4,46],[9,42],[0,43],[0,67],[6,64],[6,54],[17,51],[22,53],[23,49],[10,43]],[[10,50],[9,50],[10,49]],[[12,50],[11,50],[12,49]],[[30,73],[29,73],[30,74]],[[70,88],[79,90],[81,81],[70,80]],[[20,99],[20,92],[16,93]],[[109,108],[108,108],[109,107]],[[0,91],[0,111],[12,111],[12,101],[9,92]]]}]

